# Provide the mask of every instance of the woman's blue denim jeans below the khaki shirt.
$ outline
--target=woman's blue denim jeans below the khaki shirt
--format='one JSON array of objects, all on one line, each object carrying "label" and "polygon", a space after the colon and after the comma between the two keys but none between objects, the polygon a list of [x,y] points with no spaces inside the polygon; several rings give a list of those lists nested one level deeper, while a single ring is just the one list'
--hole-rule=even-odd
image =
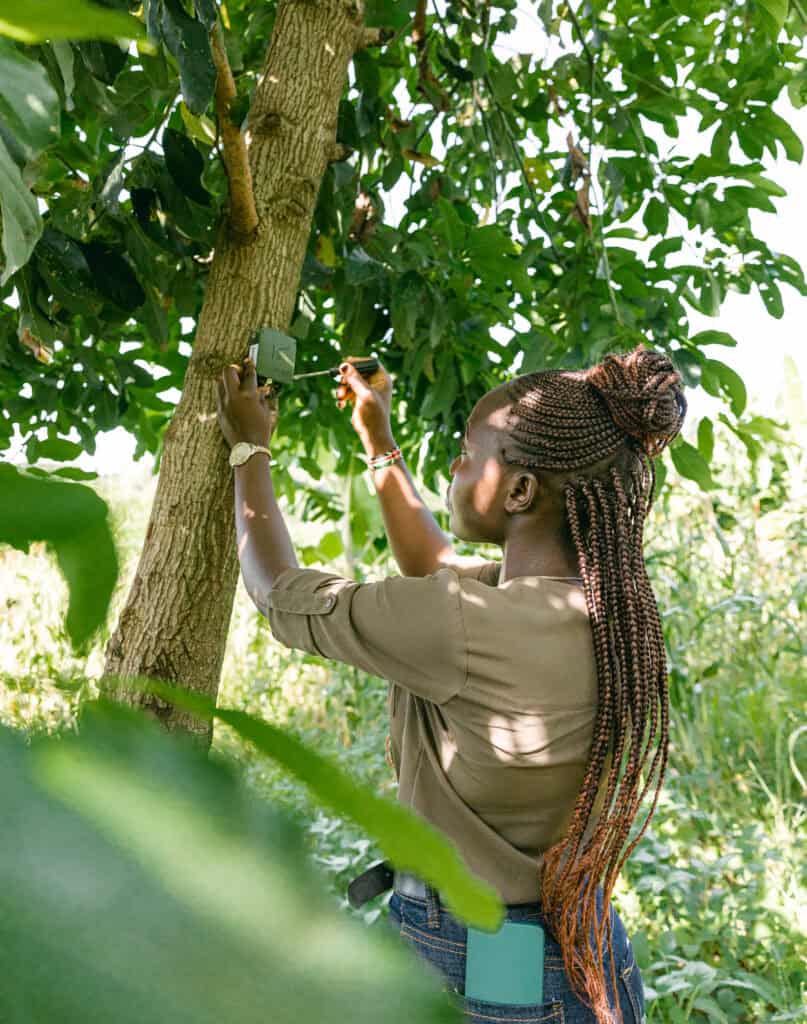
[{"label": "woman's blue denim jeans below the khaki shirt", "polygon": [[[613,952],[617,958],[618,998],[624,1024],[644,1024],[644,990],[633,947],[620,915],[609,907],[613,930]],[[597,889],[597,918],[602,920],[602,889]],[[539,903],[521,903],[507,907],[509,921],[530,921],[544,926],[544,1002],[529,1006],[508,1006],[483,1002],[465,997],[466,927],[440,904],[433,889],[427,890],[426,900],[393,892],[389,900],[392,927],[417,954],[441,976],[444,987],[454,994],[472,1024],[493,1022],[529,1022],[529,1024],[596,1024],[591,1010],[571,990],[563,970],[560,946],[545,926]],[[610,956],[607,943],[604,957],[608,1000],[613,1012],[615,1001],[610,980]]]}]

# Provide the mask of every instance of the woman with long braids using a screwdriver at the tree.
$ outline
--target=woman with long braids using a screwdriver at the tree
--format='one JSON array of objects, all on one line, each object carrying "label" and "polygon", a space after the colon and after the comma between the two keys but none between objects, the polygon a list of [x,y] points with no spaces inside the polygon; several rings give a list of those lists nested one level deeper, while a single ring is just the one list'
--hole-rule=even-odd
[{"label": "woman with long braids using a screwdriver at the tree", "polygon": [[[420,880],[395,873],[391,919],[469,1020],[638,1024],[641,978],[609,899],[666,766],[665,648],[642,543],[651,460],[686,411],[681,379],[640,346],[489,391],[448,499],[457,537],[502,546],[487,562],[455,554],[419,498],[392,436],[389,376],[340,369],[337,399],[354,402],[404,575],[299,569],[259,452],[236,469],[245,584],[281,643],[390,680],[398,799],[498,889],[509,920],[544,927],[543,1001],[464,998],[466,929]],[[219,420],[231,444],[266,444],[277,410],[254,367],[224,372]]]}]

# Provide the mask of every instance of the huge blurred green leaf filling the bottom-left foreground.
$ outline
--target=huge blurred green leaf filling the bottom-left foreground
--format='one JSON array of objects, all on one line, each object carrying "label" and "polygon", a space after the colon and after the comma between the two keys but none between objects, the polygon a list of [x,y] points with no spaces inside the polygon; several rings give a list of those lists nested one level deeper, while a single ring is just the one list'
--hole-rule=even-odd
[{"label": "huge blurred green leaf filling the bottom-left foreground", "polygon": [[337,908],[297,823],[146,716],[0,729],[0,779],[4,1019],[460,1021],[391,929]]}]

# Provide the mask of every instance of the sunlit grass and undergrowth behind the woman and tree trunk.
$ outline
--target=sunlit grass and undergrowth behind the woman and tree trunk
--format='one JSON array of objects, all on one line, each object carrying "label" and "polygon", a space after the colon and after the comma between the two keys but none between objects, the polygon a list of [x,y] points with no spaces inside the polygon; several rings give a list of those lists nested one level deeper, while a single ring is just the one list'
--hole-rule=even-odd
[{"label": "sunlit grass and undergrowth behind the woman and tree trunk", "polygon": [[[807,1020],[807,467],[797,440],[784,437],[772,457],[751,464],[719,432],[717,489],[705,496],[673,481],[649,524],[670,657],[670,765],[614,902],[642,968],[650,1024]],[[123,563],[113,623],[154,481],[104,479],[98,489]],[[69,728],[100,673],[109,633],[88,659],[74,657],[60,625],[65,587],[41,547],[30,556],[0,549],[0,720],[29,731]],[[220,699],[285,725],[376,792],[394,794],[384,760],[386,684],[274,645],[241,585]],[[325,814],[225,727],[216,729],[214,753],[236,759],[251,785],[304,824],[345,912],[369,924],[385,912],[383,900],[352,911],[343,898],[347,882],[379,856],[357,828]]]}]

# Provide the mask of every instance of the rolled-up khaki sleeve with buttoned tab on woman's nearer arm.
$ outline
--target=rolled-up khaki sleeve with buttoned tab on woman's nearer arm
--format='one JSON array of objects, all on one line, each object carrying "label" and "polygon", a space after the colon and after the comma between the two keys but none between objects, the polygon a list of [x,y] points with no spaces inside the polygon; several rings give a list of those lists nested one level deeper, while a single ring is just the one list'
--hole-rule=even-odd
[{"label": "rolled-up khaki sleeve with buttoned tab on woman's nearer arm", "polygon": [[435,703],[465,685],[468,644],[453,569],[356,583],[289,568],[274,581],[263,610],[286,647],[354,665]]}]

